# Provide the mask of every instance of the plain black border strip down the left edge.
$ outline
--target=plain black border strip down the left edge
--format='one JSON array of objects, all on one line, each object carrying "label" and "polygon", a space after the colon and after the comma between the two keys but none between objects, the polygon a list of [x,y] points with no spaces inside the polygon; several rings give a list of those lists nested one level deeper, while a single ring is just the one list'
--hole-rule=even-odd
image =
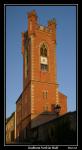
[{"label": "plain black border strip down the left edge", "polygon": [[4,143],[4,6],[0,5],[0,147]]}]

